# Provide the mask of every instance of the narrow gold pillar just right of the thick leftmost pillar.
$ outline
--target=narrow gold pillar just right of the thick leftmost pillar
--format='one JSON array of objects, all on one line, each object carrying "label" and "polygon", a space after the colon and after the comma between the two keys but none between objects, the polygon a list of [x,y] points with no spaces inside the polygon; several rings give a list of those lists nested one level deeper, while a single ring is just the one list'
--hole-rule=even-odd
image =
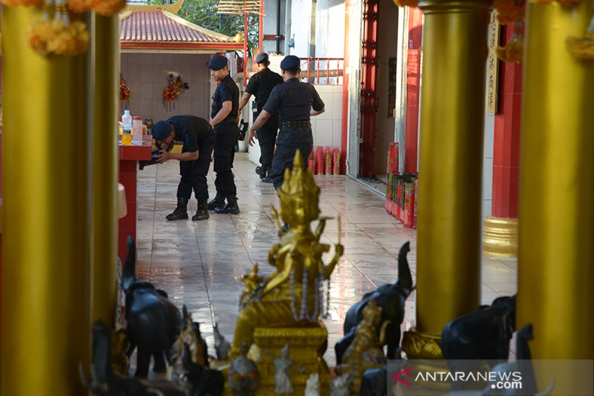
[{"label": "narrow gold pillar just right of the thick leftmost pillar", "polygon": [[94,17],[93,320],[113,327],[118,257],[119,18]]}]

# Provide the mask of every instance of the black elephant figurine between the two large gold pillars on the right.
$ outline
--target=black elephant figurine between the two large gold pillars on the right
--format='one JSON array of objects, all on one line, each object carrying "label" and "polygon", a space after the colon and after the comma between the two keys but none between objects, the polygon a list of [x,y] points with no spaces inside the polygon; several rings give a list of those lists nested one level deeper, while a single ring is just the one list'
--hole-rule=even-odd
[{"label": "black elephant figurine between the two large gold pillars on the right", "polygon": [[441,332],[445,359],[486,360],[489,366],[507,360],[516,331],[516,296],[498,297],[492,305],[460,316]]}]

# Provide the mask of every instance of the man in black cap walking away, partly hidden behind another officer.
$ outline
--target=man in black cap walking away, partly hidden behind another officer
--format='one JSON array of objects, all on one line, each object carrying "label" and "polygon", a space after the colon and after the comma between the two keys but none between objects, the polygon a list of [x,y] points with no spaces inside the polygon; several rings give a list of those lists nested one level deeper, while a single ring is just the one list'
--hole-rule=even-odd
[{"label": "man in black cap walking away, partly hidden behind another officer", "polygon": [[[283,83],[283,78],[279,74],[271,71],[268,68],[270,61],[268,61],[268,54],[266,52],[258,53],[255,63],[258,65],[260,71],[252,75],[249,79],[248,86],[245,88],[244,96],[239,101],[239,111],[248,103],[249,97],[254,95],[254,122],[260,115],[264,104],[270,96],[270,92],[276,85]],[[266,176],[272,169],[272,155],[274,153],[274,143],[276,142],[276,134],[279,131],[279,116],[277,113],[271,114],[268,121],[256,132],[258,143],[260,143],[260,163],[261,166],[256,167],[256,173],[260,175],[260,179],[264,182],[271,183],[270,176]],[[255,134],[250,134],[248,141],[254,139]]]}]

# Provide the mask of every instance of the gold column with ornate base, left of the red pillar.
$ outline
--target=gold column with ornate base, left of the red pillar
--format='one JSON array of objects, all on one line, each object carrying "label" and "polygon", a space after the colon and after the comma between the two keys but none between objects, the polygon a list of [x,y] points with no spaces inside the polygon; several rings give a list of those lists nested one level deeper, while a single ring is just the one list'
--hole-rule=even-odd
[{"label": "gold column with ornate base, left of the red pillar", "polygon": [[422,0],[419,7],[425,22],[418,332],[405,334],[403,348],[413,357],[440,357],[438,335],[444,325],[480,302],[485,68],[492,2]]}]

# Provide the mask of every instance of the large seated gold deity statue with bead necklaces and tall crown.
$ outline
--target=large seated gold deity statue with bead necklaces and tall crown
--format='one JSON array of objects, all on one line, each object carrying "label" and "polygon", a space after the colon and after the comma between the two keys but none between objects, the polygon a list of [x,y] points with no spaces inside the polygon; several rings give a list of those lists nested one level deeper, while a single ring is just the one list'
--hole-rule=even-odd
[{"label": "large seated gold deity statue with bead necklaces and tall crown", "polygon": [[[276,271],[264,279],[258,276],[256,265],[252,273],[242,279],[244,294],[230,359],[243,354],[242,344],[251,346],[257,327],[318,326],[324,311],[323,280],[330,278],[343,254],[339,239],[328,265],[322,261],[322,254],[330,251],[330,245],[320,243],[326,224],[326,218],[319,218],[320,189],[315,185],[312,173],[305,169],[299,150],[295,153],[293,169],[285,170],[285,180],[278,194],[280,217],[290,228],[282,233],[279,243],[268,254],[268,262]],[[277,217],[274,207],[272,211]],[[314,220],[320,222],[312,232],[310,223]]]}]

